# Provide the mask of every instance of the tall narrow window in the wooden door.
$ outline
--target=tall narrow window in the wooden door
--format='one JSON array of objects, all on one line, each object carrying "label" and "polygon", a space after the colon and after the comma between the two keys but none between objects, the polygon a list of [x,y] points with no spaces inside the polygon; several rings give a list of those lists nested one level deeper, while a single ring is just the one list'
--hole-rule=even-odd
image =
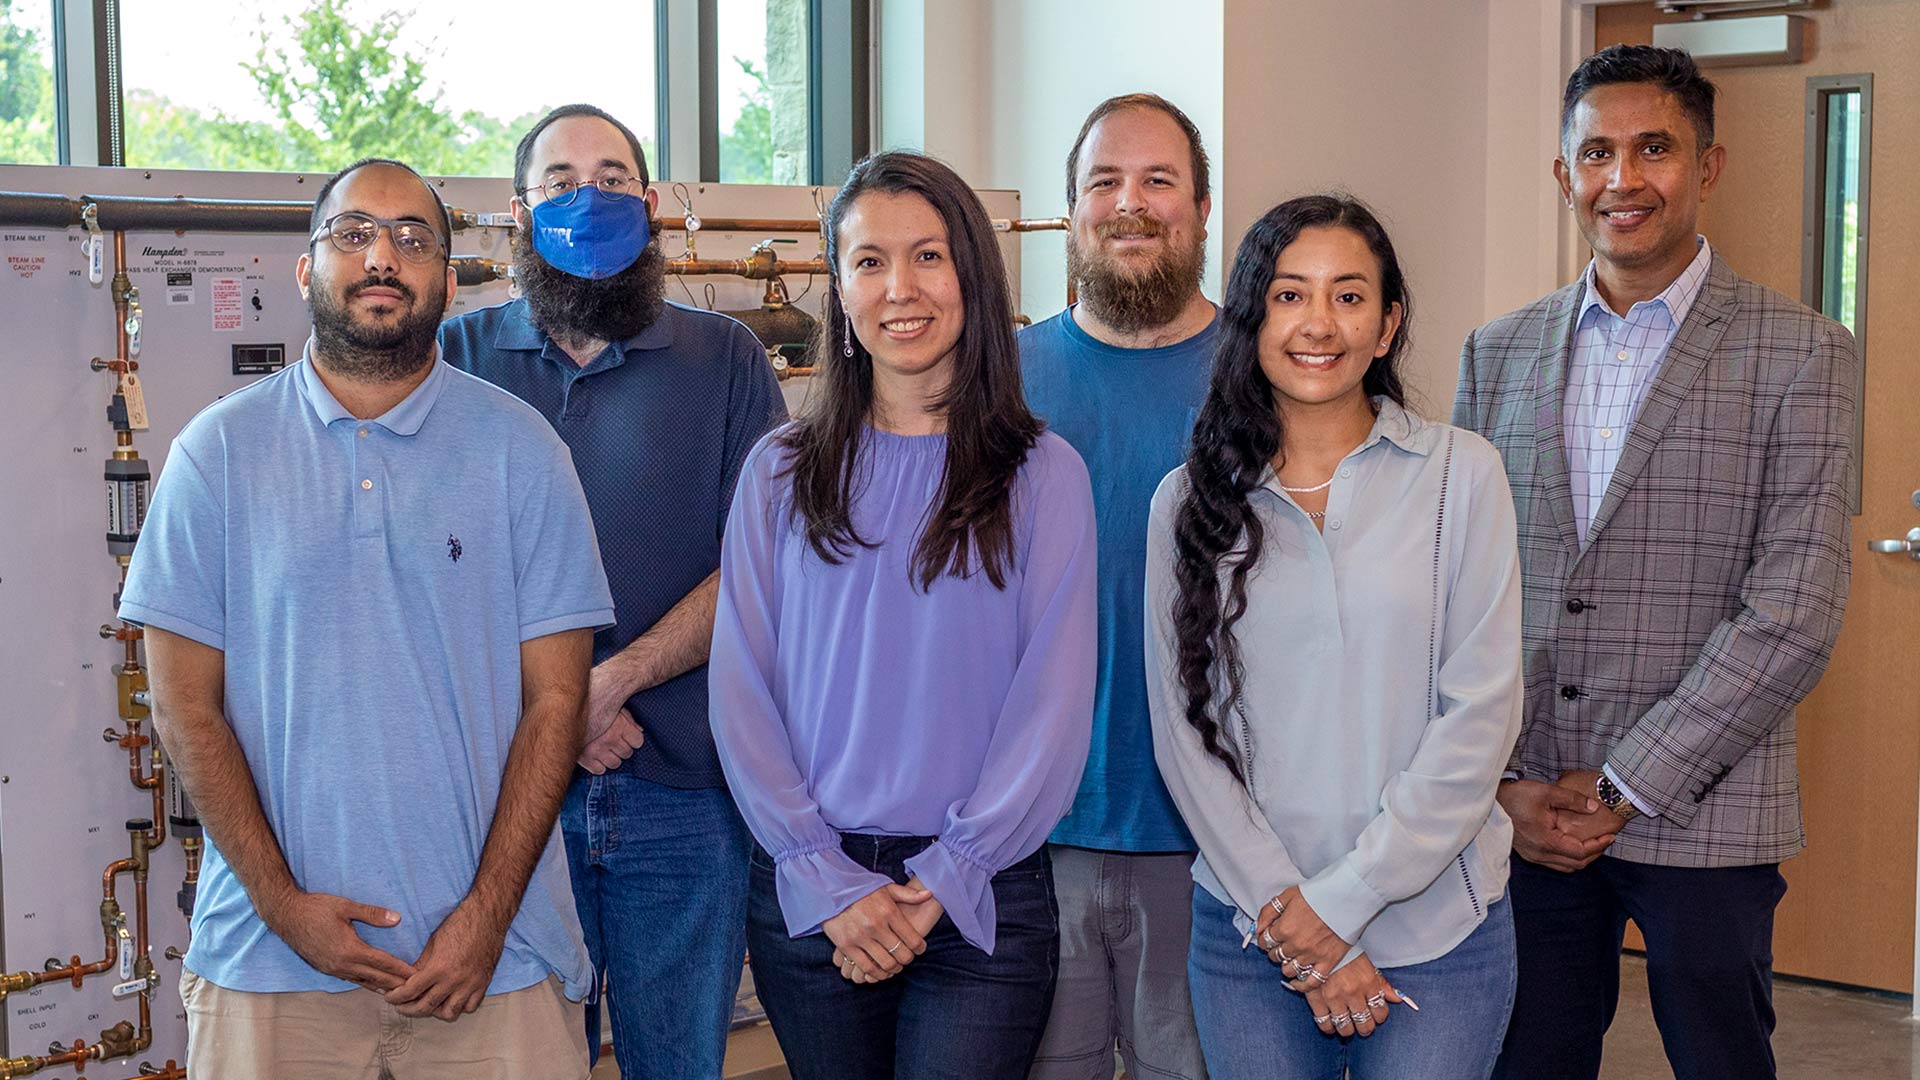
[{"label": "tall narrow window in the wooden door", "polygon": [[[1807,79],[1807,186],[1801,302],[1853,331],[1866,394],[1866,209],[1872,173],[1874,77]],[[1860,513],[1864,411],[1853,432],[1849,509]]]}]

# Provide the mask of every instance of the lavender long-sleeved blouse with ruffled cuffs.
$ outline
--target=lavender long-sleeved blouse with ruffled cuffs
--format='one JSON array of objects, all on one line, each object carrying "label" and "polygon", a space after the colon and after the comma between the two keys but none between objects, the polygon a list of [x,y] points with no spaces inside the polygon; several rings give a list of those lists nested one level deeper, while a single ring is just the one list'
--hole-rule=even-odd
[{"label": "lavender long-sleeved blouse with ruffled cuffs", "polygon": [[799,938],[889,884],[843,832],[935,836],[906,869],[993,953],[993,874],[1066,815],[1094,690],[1094,519],[1087,465],[1048,432],[1014,482],[1014,565],[922,592],[912,557],[947,436],[866,430],[852,525],[822,561],[787,513],[780,430],[741,469],[708,661],[720,765],[776,867]]}]

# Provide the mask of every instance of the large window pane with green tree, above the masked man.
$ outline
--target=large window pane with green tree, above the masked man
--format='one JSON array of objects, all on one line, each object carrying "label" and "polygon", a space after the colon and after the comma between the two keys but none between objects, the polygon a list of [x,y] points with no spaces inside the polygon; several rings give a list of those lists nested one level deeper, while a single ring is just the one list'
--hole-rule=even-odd
[{"label": "large window pane with green tree, above the masked man", "polygon": [[639,135],[657,173],[653,2],[588,12],[591,33],[576,8],[507,0],[397,12],[244,0],[192,17],[121,4],[127,163],[305,171],[384,156],[430,175],[505,177],[540,115],[589,102]]}]

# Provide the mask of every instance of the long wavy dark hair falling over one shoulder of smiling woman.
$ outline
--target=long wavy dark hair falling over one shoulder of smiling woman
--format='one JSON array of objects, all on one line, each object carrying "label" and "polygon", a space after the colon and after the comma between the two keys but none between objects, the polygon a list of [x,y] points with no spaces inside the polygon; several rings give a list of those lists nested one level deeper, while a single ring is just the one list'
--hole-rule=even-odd
[{"label": "long wavy dark hair falling over one shoulder of smiling woman", "polygon": [[[1367,367],[1361,388],[1369,396],[1405,405],[1400,357],[1407,352],[1413,298],[1386,229],[1365,204],[1336,194],[1296,198],[1269,209],[1240,238],[1233,259],[1213,352],[1213,380],[1194,423],[1187,494],[1173,517],[1173,578],[1179,588],[1173,598],[1179,646],[1175,667],[1187,694],[1187,723],[1200,732],[1208,753],[1225,761],[1242,784],[1246,776],[1240,759],[1221,738],[1221,724],[1240,696],[1240,648],[1233,626],[1246,615],[1246,578],[1265,546],[1265,530],[1254,513],[1250,492],[1260,486],[1267,463],[1283,446],[1273,384],[1260,369],[1260,325],[1267,319],[1267,288],[1273,286],[1281,252],[1302,229],[1315,227],[1352,229],[1379,259],[1380,311],[1392,311],[1400,304],[1402,321],[1392,346]],[[1225,598],[1219,588],[1221,561],[1231,567]],[[1215,667],[1227,676],[1227,696],[1217,707]]]}]

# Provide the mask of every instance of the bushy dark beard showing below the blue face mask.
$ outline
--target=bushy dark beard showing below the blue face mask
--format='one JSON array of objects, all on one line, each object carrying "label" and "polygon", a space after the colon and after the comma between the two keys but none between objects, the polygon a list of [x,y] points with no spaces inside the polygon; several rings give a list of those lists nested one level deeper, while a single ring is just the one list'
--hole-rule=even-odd
[{"label": "bushy dark beard showing below the blue face mask", "polygon": [[513,231],[513,281],[534,323],[561,342],[624,342],[660,317],[666,256],[649,240],[634,265],[612,277],[574,277],[543,259],[524,229]]}]

